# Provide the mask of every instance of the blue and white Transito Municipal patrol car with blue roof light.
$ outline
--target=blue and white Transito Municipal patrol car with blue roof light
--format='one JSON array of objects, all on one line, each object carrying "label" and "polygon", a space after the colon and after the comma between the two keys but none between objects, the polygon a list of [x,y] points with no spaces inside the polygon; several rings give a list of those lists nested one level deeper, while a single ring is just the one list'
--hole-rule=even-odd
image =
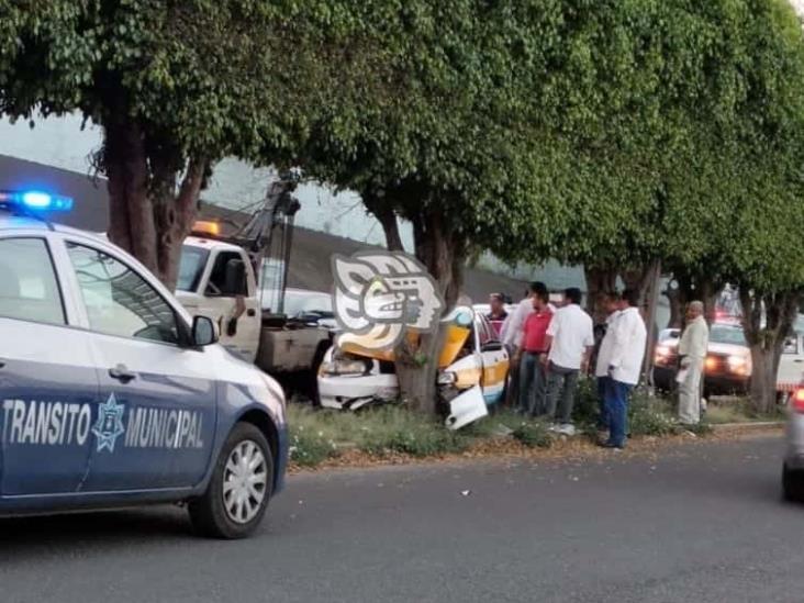
[{"label": "blue and white Transito Municipal patrol car with blue roof light", "polygon": [[0,192],[0,515],[187,503],[247,536],[282,487],[277,382],[219,345],[133,257]]}]

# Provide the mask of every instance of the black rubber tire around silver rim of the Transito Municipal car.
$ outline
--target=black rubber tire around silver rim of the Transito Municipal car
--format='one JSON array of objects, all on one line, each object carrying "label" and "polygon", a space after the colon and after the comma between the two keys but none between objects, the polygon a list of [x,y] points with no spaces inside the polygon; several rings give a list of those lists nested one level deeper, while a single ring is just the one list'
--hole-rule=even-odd
[{"label": "black rubber tire around silver rim of the Transito Municipal car", "polygon": [[[238,446],[252,442],[257,446],[265,461],[266,483],[263,490],[264,498],[259,509],[250,520],[244,523],[234,521],[226,511],[224,501],[224,476],[226,464],[233,450]],[[196,531],[212,538],[245,538],[249,536],[263,521],[273,489],[273,456],[263,432],[250,423],[237,423],[226,438],[221,454],[215,461],[212,479],[202,496],[191,500],[188,504],[190,520]]]}]

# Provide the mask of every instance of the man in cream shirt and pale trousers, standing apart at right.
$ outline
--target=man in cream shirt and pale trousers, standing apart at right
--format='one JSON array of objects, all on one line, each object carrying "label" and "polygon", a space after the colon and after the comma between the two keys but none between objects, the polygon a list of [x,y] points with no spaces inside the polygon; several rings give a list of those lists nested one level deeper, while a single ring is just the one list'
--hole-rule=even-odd
[{"label": "man in cream shirt and pale trousers, standing apart at right", "polygon": [[695,425],[701,421],[701,378],[706,350],[710,345],[710,327],[704,319],[704,304],[690,302],[686,308],[686,328],[679,342],[681,373],[679,383],[679,422]]}]

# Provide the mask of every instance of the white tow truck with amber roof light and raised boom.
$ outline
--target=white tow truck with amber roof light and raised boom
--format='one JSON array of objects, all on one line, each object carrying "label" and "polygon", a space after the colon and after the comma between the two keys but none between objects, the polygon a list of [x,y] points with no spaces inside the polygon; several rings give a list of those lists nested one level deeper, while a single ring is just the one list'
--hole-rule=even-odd
[{"label": "white tow truck with amber roof light and raised boom", "polygon": [[299,210],[294,188],[288,179],[271,185],[264,206],[232,235],[224,236],[219,222],[197,222],[183,243],[176,287],[188,312],[217,324],[223,346],[271,375],[315,371],[332,345],[325,295],[310,292],[321,309],[308,304],[297,315],[284,312]]}]

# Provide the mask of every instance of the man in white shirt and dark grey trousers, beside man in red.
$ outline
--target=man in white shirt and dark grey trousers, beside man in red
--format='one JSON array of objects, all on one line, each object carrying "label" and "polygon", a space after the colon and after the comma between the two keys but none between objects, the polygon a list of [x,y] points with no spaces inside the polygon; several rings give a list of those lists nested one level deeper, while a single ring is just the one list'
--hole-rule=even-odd
[{"label": "man in white shirt and dark grey trousers, beside man in red", "polygon": [[[589,369],[589,357],[594,346],[592,317],[581,310],[581,290],[574,287],[563,293],[565,304],[552,316],[547,330],[544,355],[547,362],[547,418],[555,421],[551,431],[568,436],[576,434],[572,406],[578,375]],[[561,393],[559,404],[558,397]]]}]

